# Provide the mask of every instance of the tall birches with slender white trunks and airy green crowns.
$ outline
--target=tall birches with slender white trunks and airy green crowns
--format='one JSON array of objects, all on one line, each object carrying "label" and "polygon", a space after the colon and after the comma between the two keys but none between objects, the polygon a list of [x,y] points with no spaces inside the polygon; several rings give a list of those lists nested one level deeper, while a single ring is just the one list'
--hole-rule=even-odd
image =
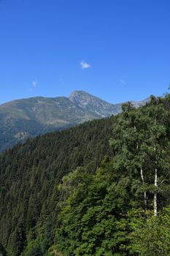
[{"label": "tall birches with slender white trunks and airy green crowns", "polygon": [[[144,108],[134,109],[130,102],[123,105],[113,129],[111,144],[115,155],[123,159],[123,170],[136,184],[136,192],[143,193],[144,208],[153,202],[154,216],[158,212],[158,194],[169,177],[169,111],[163,99],[151,97]],[[135,180],[135,181],[134,181]],[[151,197],[153,195],[153,197]]]}]

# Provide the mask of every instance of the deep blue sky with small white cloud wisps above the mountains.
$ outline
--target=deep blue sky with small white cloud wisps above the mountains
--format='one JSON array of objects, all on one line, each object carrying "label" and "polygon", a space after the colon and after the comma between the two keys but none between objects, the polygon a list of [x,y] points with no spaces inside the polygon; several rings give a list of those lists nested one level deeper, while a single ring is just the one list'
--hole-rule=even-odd
[{"label": "deep blue sky with small white cloud wisps above the mountains", "polygon": [[0,1],[0,103],[73,90],[124,102],[169,82],[169,0]]}]

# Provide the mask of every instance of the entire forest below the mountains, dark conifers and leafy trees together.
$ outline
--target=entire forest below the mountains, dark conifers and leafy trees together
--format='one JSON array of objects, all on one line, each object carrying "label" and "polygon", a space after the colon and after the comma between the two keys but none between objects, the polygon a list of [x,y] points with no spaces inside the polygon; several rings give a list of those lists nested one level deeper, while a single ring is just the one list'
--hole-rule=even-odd
[{"label": "entire forest below the mountains, dark conifers and leafy trees together", "polygon": [[0,255],[170,255],[170,94],[0,155]]}]

